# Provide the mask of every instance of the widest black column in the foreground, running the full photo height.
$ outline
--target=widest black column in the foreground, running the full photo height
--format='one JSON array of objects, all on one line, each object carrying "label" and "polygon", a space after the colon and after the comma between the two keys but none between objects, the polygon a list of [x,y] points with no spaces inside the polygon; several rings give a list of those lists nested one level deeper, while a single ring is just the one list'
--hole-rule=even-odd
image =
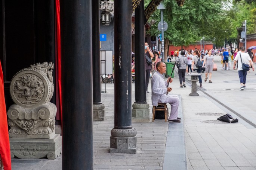
[{"label": "widest black column in the foreground, running the full photo height", "polygon": [[92,170],[92,1],[61,0],[60,6],[62,170]]}]

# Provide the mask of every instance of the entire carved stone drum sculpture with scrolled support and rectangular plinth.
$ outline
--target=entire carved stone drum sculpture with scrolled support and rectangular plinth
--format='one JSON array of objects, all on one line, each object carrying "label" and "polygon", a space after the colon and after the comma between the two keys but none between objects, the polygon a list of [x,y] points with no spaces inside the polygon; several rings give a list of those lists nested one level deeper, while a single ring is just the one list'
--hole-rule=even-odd
[{"label": "entire carved stone drum sculpture with scrolled support and rectangular plinth", "polygon": [[12,78],[15,104],[7,111],[11,157],[55,159],[61,154],[61,136],[55,134],[57,108],[50,100],[54,86],[52,62],[30,65]]}]

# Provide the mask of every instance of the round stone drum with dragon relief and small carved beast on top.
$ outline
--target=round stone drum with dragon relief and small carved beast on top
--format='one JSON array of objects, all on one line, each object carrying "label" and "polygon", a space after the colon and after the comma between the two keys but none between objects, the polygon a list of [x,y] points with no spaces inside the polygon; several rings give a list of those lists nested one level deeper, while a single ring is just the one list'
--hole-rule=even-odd
[{"label": "round stone drum with dragon relief and small carved beast on top", "polygon": [[16,73],[10,84],[13,102],[23,108],[35,108],[50,102],[54,91],[53,65],[52,62],[37,63]]}]

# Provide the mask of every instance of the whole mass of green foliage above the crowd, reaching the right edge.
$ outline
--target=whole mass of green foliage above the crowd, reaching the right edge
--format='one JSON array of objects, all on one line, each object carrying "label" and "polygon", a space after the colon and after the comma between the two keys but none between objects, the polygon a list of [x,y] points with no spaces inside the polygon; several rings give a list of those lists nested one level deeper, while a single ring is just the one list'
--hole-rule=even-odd
[{"label": "whole mass of green foliage above the crowd, reaching the right edge", "polygon": [[[150,0],[145,0],[148,4]],[[256,26],[256,0],[186,0],[179,7],[176,0],[164,0],[164,21],[168,24],[164,40],[175,46],[189,45],[200,41],[213,41],[223,46],[225,39],[229,43],[237,41],[237,28],[247,20],[247,33],[254,33]],[[156,36],[161,21],[160,10],[155,11],[150,20],[155,24],[146,32]],[[166,53],[167,54],[167,53]]]}]

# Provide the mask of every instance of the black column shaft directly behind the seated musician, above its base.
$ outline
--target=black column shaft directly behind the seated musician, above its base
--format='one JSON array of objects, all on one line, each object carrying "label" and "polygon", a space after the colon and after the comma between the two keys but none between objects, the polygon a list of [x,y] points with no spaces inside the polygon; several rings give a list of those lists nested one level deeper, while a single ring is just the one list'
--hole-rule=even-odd
[{"label": "black column shaft directly behind the seated musician, above its base", "polygon": [[144,0],[135,9],[135,103],[146,103]]}]

